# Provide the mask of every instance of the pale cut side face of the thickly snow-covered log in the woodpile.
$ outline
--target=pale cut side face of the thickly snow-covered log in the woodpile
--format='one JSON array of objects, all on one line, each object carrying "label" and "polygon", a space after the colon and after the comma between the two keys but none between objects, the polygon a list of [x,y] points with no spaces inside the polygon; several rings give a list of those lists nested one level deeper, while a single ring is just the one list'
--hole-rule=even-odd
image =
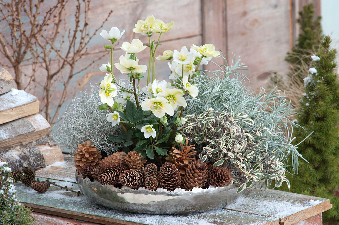
[{"label": "pale cut side face of the thickly snow-covered log in the woodpile", "polygon": [[[39,104],[40,104],[39,100],[36,99],[34,102],[26,103],[24,105],[20,105],[20,106],[14,107],[14,108],[10,108],[10,109],[0,111],[0,117],[1,117],[1,114],[7,114],[8,112],[12,112],[12,111],[18,112],[17,115],[13,115],[13,114],[9,113],[9,114],[11,114],[11,118],[8,119],[8,120],[0,121],[0,124],[6,123],[6,122],[11,122],[13,120],[23,118],[25,116],[31,116],[31,115],[37,114],[39,112]],[[26,112],[27,107],[29,107],[30,109],[34,109],[34,111],[30,112],[29,114],[21,113],[21,112]]]}]

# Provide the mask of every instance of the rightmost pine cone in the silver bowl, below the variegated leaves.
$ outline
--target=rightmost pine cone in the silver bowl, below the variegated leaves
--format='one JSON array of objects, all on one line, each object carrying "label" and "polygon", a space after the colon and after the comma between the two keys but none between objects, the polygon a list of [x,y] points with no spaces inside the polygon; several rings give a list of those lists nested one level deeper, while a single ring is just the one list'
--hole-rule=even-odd
[{"label": "rightmost pine cone in the silver bowl, below the variegated leaves", "polygon": [[224,187],[230,184],[232,173],[224,166],[212,166],[208,184],[216,187]]}]

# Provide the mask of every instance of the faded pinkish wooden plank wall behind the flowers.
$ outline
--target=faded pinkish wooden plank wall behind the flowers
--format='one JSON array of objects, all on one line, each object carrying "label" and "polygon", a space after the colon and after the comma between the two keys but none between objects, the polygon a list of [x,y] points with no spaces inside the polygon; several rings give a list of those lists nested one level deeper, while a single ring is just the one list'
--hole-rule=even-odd
[{"label": "faded pinkish wooden plank wall behind the flowers", "polygon": [[[132,32],[134,22],[145,19],[148,15],[154,15],[165,22],[175,21],[173,29],[165,33],[161,39],[162,45],[158,53],[163,50],[180,49],[185,45],[190,47],[192,43],[213,43],[220,48],[230,62],[232,53],[240,57],[241,61],[249,66],[244,74],[251,80],[249,84],[257,89],[262,86],[274,71],[283,72],[288,69],[284,62],[286,52],[295,43],[298,35],[298,26],[295,20],[298,10],[308,2],[314,2],[316,13],[320,15],[321,0],[102,0],[93,1],[89,13],[93,29],[104,19],[112,9],[114,13],[105,25],[105,29],[117,26],[125,29],[125,35],[119,40],[114,51],[114,61],[123,51],[119,48],[123,41],[131,41],[140,38],[146,42],[146,37]],[[72,1],[71,1],[72,2]],[[48,1],[46,4],[52,4]],[[69,7],[69,23],[72,23],[73,8]],[[4,33],[9,30],[4,29]],[[155,35],[155,38],[157,36]],[[104,42],[97,35],[88,48],[92,51],[79,63],[79,68],[86,65],[99,55],[107,57],[100,62],[107,63],[109,51],[102,51]],[[148,65],[148,51],[144,50],[137,55],[140,61]],[[0,56],[0,60],[5,59]],[[223,63],[221,58],[215,59]],[[169,74],[166,62],[157,62],[158,74],[166,78]],[[27,69],[30,69],[29,65]],[[208,66],[207,69],[213,69]],[[13,73],[11,68],[8,68]],[[88,88],[88,81],[92,84],[102,80],[103,73],[97,68],[91,76],[84,74],[74,78],[73,85],[81,84],[75,89],[78,93],[81,89]],[[118,77],[123,77],[118,75]],[[41,78],[40,80],[43,80]],[[31,91],[30,91],[31,92]],[[32,91],[33,93],[33,91]],[[39,96],[40,92],[33,93]],[[58,93],[54,96],[58,100]],[[69,99],[73,97],[70,94]],[[41,99],[39,99],[41,101]],[[56,101],[57,102],[57,101]],[[43,106],[44,103],[41,102]]]}]

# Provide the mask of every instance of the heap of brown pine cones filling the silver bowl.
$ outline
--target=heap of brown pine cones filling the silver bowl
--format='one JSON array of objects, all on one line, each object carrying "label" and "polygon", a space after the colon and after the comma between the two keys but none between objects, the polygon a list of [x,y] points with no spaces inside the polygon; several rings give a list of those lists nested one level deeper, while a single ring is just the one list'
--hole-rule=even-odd
[{"label": "heap of brown pine cones filling the silver bowl", "polygon": [[192,150],[195,145],[188,146],[186,140],[186,145],[180,144],[180,147],[180,150],[172,148],[171,157],[166,157],[167,162],[158,170],[153,163],[145,166],[146,159],[136,151],[128,154],[115,152],[101,159],[93,143],[85,141],[75,151],[74,164],[78,173],[91,181],[133,189],[192,190],[193,187],[207,188],[209,185],[223,187],[231,182],[232,174],[226,167],[207,165],[194,158],[196,151]]}]

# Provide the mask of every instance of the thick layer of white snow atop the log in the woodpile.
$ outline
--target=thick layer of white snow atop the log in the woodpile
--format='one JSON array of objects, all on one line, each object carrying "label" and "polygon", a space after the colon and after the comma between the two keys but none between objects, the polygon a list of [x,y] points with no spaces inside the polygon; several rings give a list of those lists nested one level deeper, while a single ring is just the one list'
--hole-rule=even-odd
[{"label": "thick layer of white snow atop the log in the woodpile", "polygon": [[37,100],[37,97],[34,95],[23,90],[12,88],[12,91],[0,95],[0,111],[26,105],[34,102],[35,100]]}]

